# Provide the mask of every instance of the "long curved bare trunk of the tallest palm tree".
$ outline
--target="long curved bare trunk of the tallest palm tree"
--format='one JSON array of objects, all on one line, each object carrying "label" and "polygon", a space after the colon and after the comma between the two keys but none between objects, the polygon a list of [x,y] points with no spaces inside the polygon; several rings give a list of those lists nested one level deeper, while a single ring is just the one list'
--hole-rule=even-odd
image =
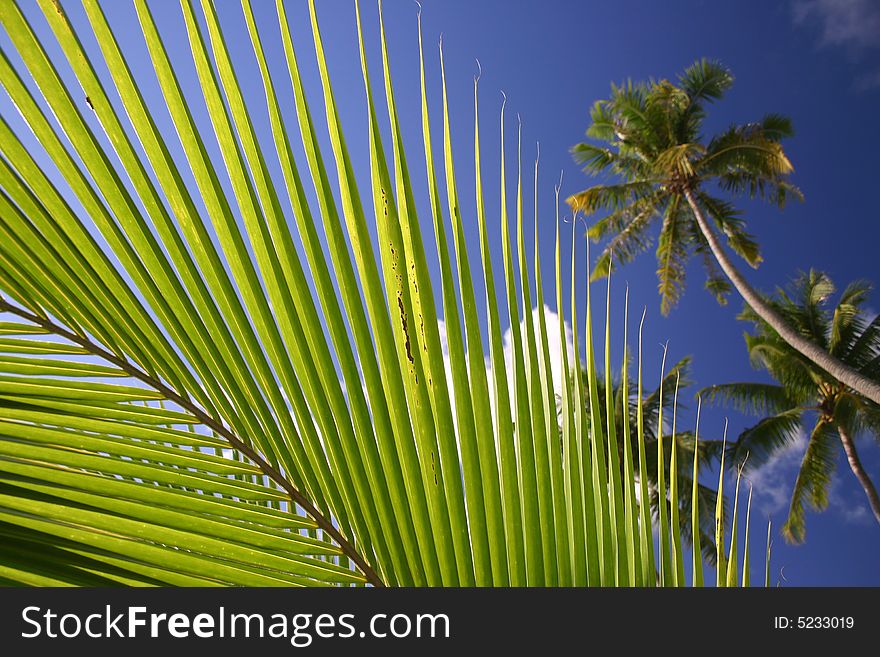
[{"label": "long curved bare trunk of the tallest palm tree", "polygon": [[850,388],[859,394],[864,395],[874,403],[880,404],[880,384],[876,381],[872,381],[863,374],[860,374],[851,367],[844,365],[817,344],[800,335],[789,326],[788,322],[785,321],[782,315],[776,312],[776,310],[774,310],[773,307],[767,303],[751,285],[749,285],[748,281],[743,278],[742,274],[739,273],[737,268],[734,267],[733,263],[727,257],[727,253],[725,253],[724,247],[722,247],[721,243],[718,241],[715,231],[712,230],[712,227],[703,215],[702,210],[700,210],[700,207],[697,205],[693,192],[686,189],[684,195],[694,213],[697,225],[699,225],[703,236],[709,243],[709,248],[712,249],[712,254],[715,256],[721,269],[727,275],[727,278],[730,279],[730,282],[733,283],[737,292],[739,292],[745,302],[751,306],[752,310],[754,310],[761,319],[767,322],[767,324],[769,324],[783,340],[806,356],[818,367],[821,367],[835,379],[848,385]]}]

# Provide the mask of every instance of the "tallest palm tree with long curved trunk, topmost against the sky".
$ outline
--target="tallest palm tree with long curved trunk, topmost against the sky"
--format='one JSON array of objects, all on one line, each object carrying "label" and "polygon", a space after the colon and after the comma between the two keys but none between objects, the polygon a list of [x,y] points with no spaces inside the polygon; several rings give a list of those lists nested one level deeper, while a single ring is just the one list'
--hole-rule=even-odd
[{"label": "tallest palm tree with long curved trunk, topmost against the sky", "polygon": [[669,80],[628,82],[612,86],[610,99],[593,105],[587,136],[597,143],[578,144],[572,149],[574,156],[590,173],[622,179],[595,185],[568,199],[574,209],[587,214],[608,211],[588,233],[594,240],[613,235],[593,275],[608,273],[612,252],[619,261],[628,262],[646,250],[651,242],[648,230],[657,219],[661,223],[657,275],[664,314],[681,295],[687,259],[697,254],[707,270],[706,287],[716,298],[723,302],[732,283],[794,349],[838,381],[880,403],[880,385],[786,324],[743,277],[721,244],[717,230],[749,265],[757,267],[761,262],[758,244],[746,231],[739,211],[714,195],[716,189],[748,193],[779,207],[789,198],[801,198],[789,181],[793,168],[781,143],[792,135],[787,117],[768,114],[755,123],[731,126],[708,143],[702,141],[706,106],[720,99],[732,84],[727,68],[704,59],[688,67],[677,85]]}]

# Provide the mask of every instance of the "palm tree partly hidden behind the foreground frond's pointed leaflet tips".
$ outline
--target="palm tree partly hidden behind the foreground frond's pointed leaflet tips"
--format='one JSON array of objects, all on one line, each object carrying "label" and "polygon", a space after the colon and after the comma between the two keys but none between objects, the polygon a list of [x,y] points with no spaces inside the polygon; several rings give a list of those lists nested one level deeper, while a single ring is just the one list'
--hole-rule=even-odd
[{"label": "palm tree partly hidden behind the foreground frond's pointed leaflet tips", "polygon": [[[676,386],[678,386],[679,391],[681,392],[691,384],[691,381],[688,378],[690,360],[690,357],[684,357],[675,363],[663,377],[662,384],[659,384],[654,390],[643,392],[641,403],[639,403],[638,390],[635,382],[628,383],[625,394],[622,376],[610,382],[611,397],[614,400],[612,405],[612,417],[614,418],[615,435],[625,435],[624,399],[626,399],[626,417],[631,426],[637,425],[640,409],[643,415],[646,457],[645,472],[650,494],[651,516],[655,519],[660,517],[660,495],[658,494],[658,491],[660,490],[660,479],[657,471],[658,435],[660,434],[659,422],[662,420],[662,415],[665,415],[667,420],[670,420],[674,413],[680,412],[683,408],[683,405],[678,400],[678,395],[676,395]],[[586,376],[586,373],[584,375]],[[605,376],[601,376],[598,378],[597,383],[599,398],[604,399],[607,392],[606,387],[609,385],[608,379]],[[661,403],[663,405],[662,415],[660,413]],[[607,423],[607,412],[604,406],[600,408],[599,414],[602,425],[605,426]],[[675,429],[674,436],[671,432],[671,427],[664,428],[662,447],[664,452],[664,464],[666,466],[666,472],[664,474],[667,478],[672,476],[669,467],[672,461],[673,439],[678,454],[680,455],[676,458],[676,476],[678,477],[679,486],[677,487],[678,496],[675,503],[678,505],[677,515],[679,517],[682,537],[690,542],[690,538],[693,536],[693,528],[691,527],[693,509],[691,507],[691,502],[694,483],[692,474],[694,450],[698,451],[697,460],[702,466],[710,467],[717,465],[721,458],[723,441],[706,440],[705,438],[696,440],[695,432],[691,430],[682,430],[680,423]],[[639,450],[637,437],[635,435],[631,436],[630,449],[633,453],[634,469],[640,471]],[[620,463],[623,463],[624,447],[622,443],[617,445],[617,451]],[[698,517],[703,558],[709,563],[714,564],[716,559],[714,544],[714,509],[718,502],[717,491],[711,486],[700,483],[699,481],[697,482],[697,490],[699,491]]]}]

